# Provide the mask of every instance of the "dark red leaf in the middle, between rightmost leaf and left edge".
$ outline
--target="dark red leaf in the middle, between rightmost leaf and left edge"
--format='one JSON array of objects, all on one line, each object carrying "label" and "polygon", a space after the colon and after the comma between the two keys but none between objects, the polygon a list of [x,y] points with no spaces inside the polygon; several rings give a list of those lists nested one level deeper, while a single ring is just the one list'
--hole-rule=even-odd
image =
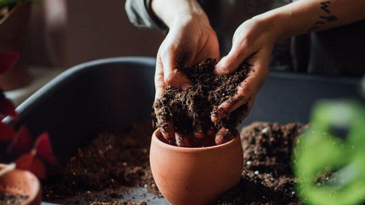
[{"label": "dark red leaf in the middle, between rightmost leaf and left edge", "polygon": [[32,142],[28,129],[25,126],[22,126],[16,133],[16,137],[7,151],[12,154],[27,153],[32,148]]}]

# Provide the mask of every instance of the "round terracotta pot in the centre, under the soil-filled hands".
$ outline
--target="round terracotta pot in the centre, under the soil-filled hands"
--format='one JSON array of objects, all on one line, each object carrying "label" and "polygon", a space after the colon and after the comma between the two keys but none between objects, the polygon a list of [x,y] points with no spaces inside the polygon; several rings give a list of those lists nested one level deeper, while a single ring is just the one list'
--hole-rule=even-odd
[{"label": "round terracotta pot in the centre, under the soil-filled hands", "polygon": [[232,140],[209,147],[186,148],[165,142],[153,132],[149,162],[162,195],[172,204],[208,204],[238,184],[243,151],[236,130]]}]

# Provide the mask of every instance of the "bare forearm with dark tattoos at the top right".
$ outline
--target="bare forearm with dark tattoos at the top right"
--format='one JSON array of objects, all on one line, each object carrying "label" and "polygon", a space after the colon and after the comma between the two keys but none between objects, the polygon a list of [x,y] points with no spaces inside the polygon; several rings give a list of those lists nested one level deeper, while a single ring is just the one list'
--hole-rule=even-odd
[{"label": "bare forearm with dark tattoos at the top right", "polygon": [[281,39],[364,19],[365,0],[298,0],[254,18],[271,22]]}]

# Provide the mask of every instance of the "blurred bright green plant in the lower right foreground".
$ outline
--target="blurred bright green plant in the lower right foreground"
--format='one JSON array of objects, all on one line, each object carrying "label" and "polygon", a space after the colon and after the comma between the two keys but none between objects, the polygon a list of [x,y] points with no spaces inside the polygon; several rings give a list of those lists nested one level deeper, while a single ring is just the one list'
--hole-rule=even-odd
[{"label": "blurred bright green plant in the lower right foreground", "polygon": [[293,164],[300,199],[309,204],[359,204],[365,199],[365,106],[321,100],[296,139]]}]

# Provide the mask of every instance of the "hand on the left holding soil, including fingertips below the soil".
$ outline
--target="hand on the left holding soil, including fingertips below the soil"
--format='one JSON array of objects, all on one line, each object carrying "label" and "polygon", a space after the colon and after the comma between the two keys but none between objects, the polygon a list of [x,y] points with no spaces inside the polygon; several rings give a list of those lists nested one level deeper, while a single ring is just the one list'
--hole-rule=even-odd
[{"label": "hand on the left holding soil, including fingertips below the soil", "polygon": [[[218,40],[205,13],[174,20],[157,52],[154,75],[155,99],[162,94],[167,84],[182,90],[189,87],[190,80],[179,68],[191,67],[206,57],[219,60]],[[164,138],[172,140],[175,138],[174,126],[172,121],[167,124],[168,128],[160,131]],[[205,134],[195,132],[194,135],[202,138]],[[176,134],[176,137],[179,137],[179,134]],[[183,139],[176,141],[186,142]],[[180,145],[188,146],[188,144]]]}]

